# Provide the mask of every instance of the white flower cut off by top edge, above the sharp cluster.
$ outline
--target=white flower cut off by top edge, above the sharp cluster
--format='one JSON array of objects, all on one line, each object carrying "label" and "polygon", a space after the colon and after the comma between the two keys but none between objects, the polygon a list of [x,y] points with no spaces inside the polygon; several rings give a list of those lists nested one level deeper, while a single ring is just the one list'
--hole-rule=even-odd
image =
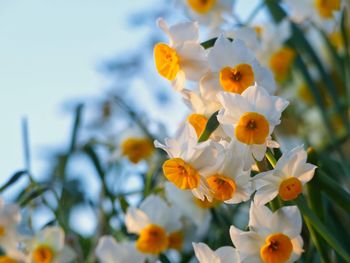
[{"label": "white flower cut off by top edge, above the sharp cluster", "polygon": [[188,16],[210,30],[217,29],[232,15],[234,0],[175,0]]}]

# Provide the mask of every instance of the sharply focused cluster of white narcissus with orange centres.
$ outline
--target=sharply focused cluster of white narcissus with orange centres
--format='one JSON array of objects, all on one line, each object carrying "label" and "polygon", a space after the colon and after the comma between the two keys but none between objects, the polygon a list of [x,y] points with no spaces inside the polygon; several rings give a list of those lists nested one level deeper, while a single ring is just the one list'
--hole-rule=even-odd
[{"label": "sharply focused cluster of white narcissus with orange centres", "polygon": [[[196,23],[168,27],[160,20],[159,24],[171,44],[155,46],[156,68],[192,110],[172,138],[164,144],[155,142],[169,156],[163,163],[164,176],[186,195],[191,191],[194,198],[213,205],[246,202],[255,193],[250,231],[231,227],[235,248],[214,252],[203,243],[194,244],[197,258],[200,262],[294,262],[303,251],[298,208],[287,206],[272,213],[264,205],[275,198],[296,199],[316,166],[307,163],[306,151],[299,146],[284,153],[276,164],[271,163],[273,170],[251,176],[254,164],[279,147],[273,131],[289,102],[274,95],[275,78],[285,78],[288,69],[279,64],[285,57],[294,56],[283,47],[288,36],[281,36],[270,46],[270,53],[252,50],[247,38],[238,32],[234,39],[221,34],[205,49],[198,41]],[[282,31],[288,23],[284,21],[279,27]],[[262,38],[268,39],[263,42],[265,49],[271,41],[267,36]],[[174,39],[181,39],[181,44],[174,45]],[[187,46],[193,52],[182,52]],[[257,54],[262,53],[272,54],[267,66],[274,74],[259,63]],[[215,127],[210,130],[213,123]],[[183,204],[177,205],[187,207],[186,198],[182,200]]]}]

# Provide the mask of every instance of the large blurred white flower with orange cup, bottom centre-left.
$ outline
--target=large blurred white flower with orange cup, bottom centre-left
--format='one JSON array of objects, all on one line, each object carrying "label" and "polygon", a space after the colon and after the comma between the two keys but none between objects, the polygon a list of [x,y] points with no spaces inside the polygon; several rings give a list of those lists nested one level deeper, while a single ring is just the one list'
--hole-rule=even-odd
[{"label": "large blurred white flower with orange cup, bottom centre-left", "polygon": [[181,230],[180,214],[154,195],[148,196],[139,209],[129,207],[125,224],[128,232],[138,235],[136,249],[150,255],[173,248],[174,235]]}]

